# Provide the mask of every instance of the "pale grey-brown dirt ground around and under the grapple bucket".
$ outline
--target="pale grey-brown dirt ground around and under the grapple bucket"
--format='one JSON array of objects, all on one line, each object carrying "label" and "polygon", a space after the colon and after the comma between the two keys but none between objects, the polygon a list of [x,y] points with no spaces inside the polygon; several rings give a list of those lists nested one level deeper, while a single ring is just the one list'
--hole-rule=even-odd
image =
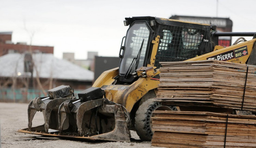
[{"label": "pale grey-brown dirt ground around and under the grapple bucket", "polygon": [[[148,148],[151,142],[141,142],[136,132],[131,131],[131,142],[86,142],[86,141],[72,141],[72,140],[49,140],[49,139],[33,139],[20,138],[21,136],[36,136],[32,134],[18,133],[18,129],[27,128],[28,104],[24,103],[0,103],[0,126],[1,126],[1,146],[2,148],[48,148],[48,147],[77,147],[77,148]],[[33,119],[33,126],[43,124],[43,115],[38,112]]]}]

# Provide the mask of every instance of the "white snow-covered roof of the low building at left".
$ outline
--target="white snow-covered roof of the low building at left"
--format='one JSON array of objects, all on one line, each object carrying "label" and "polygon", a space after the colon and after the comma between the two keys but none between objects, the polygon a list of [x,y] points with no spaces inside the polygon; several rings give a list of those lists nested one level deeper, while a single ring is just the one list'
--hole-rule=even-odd
[{"label": "white snow-covered roof of the low building at left", "polygon": [[[93,81],[94,72],[86,70],[69,61],[55,58],[53,54],[37,53],[32,55],[34,60],[33,77],[54,78],[65,80]],[[1,77],[25,77],[30,73],[24,72],[24,54],[12,53],[0,57]],[[20,75],[20,76],[18,76]]]}]

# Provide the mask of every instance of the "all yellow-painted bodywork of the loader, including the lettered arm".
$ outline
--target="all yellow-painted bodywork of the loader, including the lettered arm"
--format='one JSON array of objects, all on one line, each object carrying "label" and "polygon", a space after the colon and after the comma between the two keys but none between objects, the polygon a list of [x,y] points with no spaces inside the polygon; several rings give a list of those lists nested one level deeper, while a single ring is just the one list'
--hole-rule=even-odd
[{"label": "all yellow-painted bodywork of the loader, including the lettered arm", "polygon": [[[186,61],[222,59],[223,61],[244,64],[252,53],[255,41],[256,39],[246,41],[237,45],[213,51],[208,54],[197,56]],[[154,49],[157,49],[158,42],[153,40],[152,43],[156,43],[153,47],[154,51]],[[154,63],[154,59],[155,54],[152,54],[152,63]],[[148,66],[151,66],[151,64],[148,64]],[[113,78],[118,75],[118,68],[115,68],[103,72],[100,77],[95,81],[93,87],[101,87],[102,89],[104,89],[106,92],[106,98],[108,100],[124,105],[127,108],[128,112],[130,112],[133,105],[137,101],[139,101],[148,91],[156,89],[158,87],[159,79],[153,78],[155,75],[158,75],[160,73],[159,69],[157,69],[156,71],[157,72],[150,77],[140,77],[131,85],[111,85],[114,82]]]}]

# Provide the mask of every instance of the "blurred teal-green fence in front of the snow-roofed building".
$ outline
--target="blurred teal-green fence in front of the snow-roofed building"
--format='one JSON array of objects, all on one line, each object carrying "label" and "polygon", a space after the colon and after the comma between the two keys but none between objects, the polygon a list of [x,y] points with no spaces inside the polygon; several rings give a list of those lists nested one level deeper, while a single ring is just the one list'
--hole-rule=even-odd
[{"label": "blurred teal-green fence in front of the snow-roofed building", "polygon": [[[75,96],[81,90],[74,90]],[[45,90],[47,92],[47,90]],[[44,97],[44,93],[38,89],[0,89],[0,102],[29,102],[36,97]]]}]

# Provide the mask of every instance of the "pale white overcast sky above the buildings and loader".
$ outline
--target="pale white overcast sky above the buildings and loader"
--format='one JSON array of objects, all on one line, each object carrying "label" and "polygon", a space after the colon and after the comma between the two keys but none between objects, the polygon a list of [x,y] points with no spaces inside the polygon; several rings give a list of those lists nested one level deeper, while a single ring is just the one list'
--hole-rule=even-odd
[{"label": "pale white overcast sky above the buildings and loader", "polygon": [[[229,17],[234,32],[255,32],[255,0],[218,0],[218,17]],[[87,51],[118,56],[128,26],[125,17],[172,15],[216,17],[216,0],[0,0],[0,31],[12,41],[54,46],[54,56]],[[26,31],[26,29],[28,31]],[[248,38],[250,39],[250,38]]]}]

